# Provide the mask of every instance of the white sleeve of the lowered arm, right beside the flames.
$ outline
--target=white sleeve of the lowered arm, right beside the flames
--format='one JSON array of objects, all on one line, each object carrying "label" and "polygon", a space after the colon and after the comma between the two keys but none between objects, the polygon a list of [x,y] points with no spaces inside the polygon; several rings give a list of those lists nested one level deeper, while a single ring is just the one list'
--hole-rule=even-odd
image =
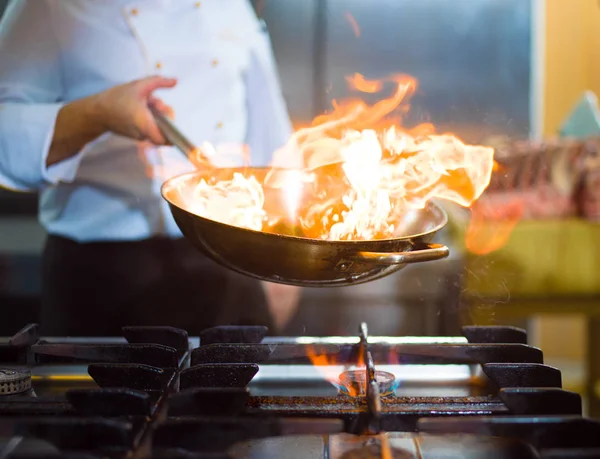
[{"label": "white sleeve of the lowered arm, right beside the flames", "polygon": [[250,65],[246,73],[246,143],[250,147],[252,165],[267,166],[273,153],[287,143],[293,131],[266,26],[256,16],[254,22]]}]

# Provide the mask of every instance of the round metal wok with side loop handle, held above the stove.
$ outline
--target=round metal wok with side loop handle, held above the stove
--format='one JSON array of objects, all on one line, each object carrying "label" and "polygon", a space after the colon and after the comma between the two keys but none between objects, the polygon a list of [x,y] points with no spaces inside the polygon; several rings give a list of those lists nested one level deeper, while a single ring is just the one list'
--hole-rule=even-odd
[{"label": "round metal wok with side loop handle, held above the stove", "polygon": [[[264,183],[266,168],[214,169],[173,177],[161,189],[183,235],[220,265],[269,282],[302,287],[354,285],[382,278],[409,263],[439,260],[449,255],[443,245],[432,244],[446,222],[446,213],[433,203],[411,210],[396,222],[392,239],[326,241],[289,234],[244,229],[200,217],[186,209],[186,199],[205,179],[229,180],[235,172],[254,175]],[[295,171],[279,170],[286,174]],[[264,185],[268,215],[283,212],[284,190]]]}]

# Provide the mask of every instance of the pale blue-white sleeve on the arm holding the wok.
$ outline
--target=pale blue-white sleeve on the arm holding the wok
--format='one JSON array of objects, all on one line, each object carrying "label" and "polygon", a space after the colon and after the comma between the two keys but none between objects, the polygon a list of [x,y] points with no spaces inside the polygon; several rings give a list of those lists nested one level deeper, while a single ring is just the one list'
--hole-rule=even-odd
[{"label": "pale blue-white sleeve on the arm holding the wok", "polygon": [[13,0],[0,22],[0,186],[72,181],[80,154],[46,167],[63,94],[60,47],[47,0]]}]

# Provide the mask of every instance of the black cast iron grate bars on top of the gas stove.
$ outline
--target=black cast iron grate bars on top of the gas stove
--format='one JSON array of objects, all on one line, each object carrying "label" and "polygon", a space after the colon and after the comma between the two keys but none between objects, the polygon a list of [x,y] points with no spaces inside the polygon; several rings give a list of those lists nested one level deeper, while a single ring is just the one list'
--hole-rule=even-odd
[{"label": "black cast iron grate bars on top of the gas stove", "polygon": [[[544,365],[523,330],[465,327],[465,344],[393,344],[371,343],[362,325],[355,344],[318,345],[337,362],[363,356],[360,397],[253,395],[248,385],[259,366],[307,363],[315,350],[264,343],[266,334],[264,327],[216,327],[190,350],[187,333],[170,327],[128,327],[127,343],[112,345],[47,343],[37,326],[25,327],[0,345],[2,365],[85,364],[96,387],[0,397],[0,437],[21,439],[16,446],[0,440],[0,454],[224,458],[241,442],[248,452],[298,438],[333,444],[342,435],[366,438],[369,457],[435,457],[446,435],[471,445],[456,456],[466,458],[490,457],[491,446],[494,457],[594,457],[600,450],[600,424],[581,417],[581,397],[561,388],[560,372]],[[480,365],[496,395],[382,397],[375,375],[390,353],[399,363]],[[410,456],[410,448],[399,456],[398,444],[419,444],[421,456]]]}]

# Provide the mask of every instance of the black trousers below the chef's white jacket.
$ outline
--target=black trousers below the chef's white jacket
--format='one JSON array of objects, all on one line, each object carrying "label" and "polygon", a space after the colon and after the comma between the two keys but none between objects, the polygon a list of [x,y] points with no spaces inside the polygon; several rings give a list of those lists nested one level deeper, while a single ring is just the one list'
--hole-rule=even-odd
[{"label": "black trousers below the chef's white jacket", "polygon": [[215,325],[273,330],[260,283],[185,239],[80,244],[49,236],[42,271],[46,336],[119,336],[126,325],[169,325],[190,335]]}]

